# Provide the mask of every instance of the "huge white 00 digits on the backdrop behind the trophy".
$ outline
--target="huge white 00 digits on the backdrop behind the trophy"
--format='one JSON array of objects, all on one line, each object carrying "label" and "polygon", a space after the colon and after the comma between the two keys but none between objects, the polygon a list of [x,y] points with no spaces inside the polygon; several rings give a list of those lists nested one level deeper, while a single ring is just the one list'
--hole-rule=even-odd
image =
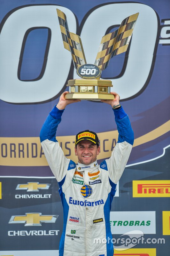
[{"label": "huge white 00 digits on the backdrop behind the trophy", "polygon": [[[11,103],[41,102],[55,97],[65,85],[70,71],[71,54],[63,47],[56,18],[56,7],[66,13],[69,29],[76,33],[76,19],[73,12],[57,5],[26,6],[12,12],[4,22],[0,33],[1,100]],[[136,12],[139,12],[140,15],[133,32],[126,70],[121,77],[112,79],[114,90],[121,95],[121,99],[132,97],[138,93],[150,74],[158,32],[155,11],[148,5],[139,3],[105,4],[89,14],[81,31],[86,58],[89,63],[94,63],[97,48],[105,31],[115,24],[120,24],[123,19]],[[41,13],[41,15],[37,16],[37,13]],[[101,13],[107,13],[104,19],[101,19]],[[94,19],[100,28],[96,29],[96,33],[90,29]],[[34,27],[51,29],[53,36],[51,37],[47,65],[40,80],[20,81],[17,71],[22,40],[27,30]],[[143,37],[143,35],[145,36]],[[93,42],[90,47],[89,40]],[[95,72],[94,69],[85,70],[86,75],[95,75]],[[76,73],[73,77],[78,78]],[[56,83],[58,84],[57,88]]]}]

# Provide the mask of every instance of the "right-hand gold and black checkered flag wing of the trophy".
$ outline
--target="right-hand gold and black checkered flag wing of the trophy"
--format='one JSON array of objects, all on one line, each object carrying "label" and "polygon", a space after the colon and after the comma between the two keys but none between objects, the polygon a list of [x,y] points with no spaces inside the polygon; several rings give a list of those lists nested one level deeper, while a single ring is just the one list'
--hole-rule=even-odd
[{"label": "right-hand gold and black checkered flag wing of the trophy", "polygon": [[110,59],[122,52],[126,52],[139,12],[124,19],[120,27],[112,33],[102,37],[95,65],[104,70]]}]

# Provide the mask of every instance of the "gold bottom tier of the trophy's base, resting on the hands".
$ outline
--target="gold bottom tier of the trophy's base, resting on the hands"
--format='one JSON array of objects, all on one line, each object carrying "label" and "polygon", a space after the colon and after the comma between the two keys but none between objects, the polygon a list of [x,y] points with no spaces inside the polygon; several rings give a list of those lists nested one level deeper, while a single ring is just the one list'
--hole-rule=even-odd
[{"label": "gold bottom tier of the trophy's base, resting on the hands", "polygon": [[67,93],[65,99],[68,100],[114,100],[114,96],[110,93],[97,93],[97,92],[70,92]]}]

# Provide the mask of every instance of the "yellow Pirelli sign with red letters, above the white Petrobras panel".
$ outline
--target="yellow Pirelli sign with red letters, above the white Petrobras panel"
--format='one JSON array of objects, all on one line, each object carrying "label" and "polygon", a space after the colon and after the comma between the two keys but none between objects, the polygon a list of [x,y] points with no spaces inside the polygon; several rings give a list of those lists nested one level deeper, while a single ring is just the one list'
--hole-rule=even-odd
[{"label": "yellow Pirelli sign with red letters, above the white Petrobras panel", "polygon": [[170,180],[133,180],[133,197],[170,197]]}]

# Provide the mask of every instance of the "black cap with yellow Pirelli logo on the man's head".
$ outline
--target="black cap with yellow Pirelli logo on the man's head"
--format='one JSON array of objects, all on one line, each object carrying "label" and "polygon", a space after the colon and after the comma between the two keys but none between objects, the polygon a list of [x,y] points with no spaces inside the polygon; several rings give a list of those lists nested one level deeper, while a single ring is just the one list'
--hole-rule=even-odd
[{"label": "black cap with yellow Pirelli logo on the man's head", "polygon": [[81,140],[90,140],[94,145],[97,145],[97,146],[99,145],[99,139],[98,139],[96,132],[92,132],[89,130],[85,130],[85,131],[77,133],[77,135],[75,137],[75,146]]}]

